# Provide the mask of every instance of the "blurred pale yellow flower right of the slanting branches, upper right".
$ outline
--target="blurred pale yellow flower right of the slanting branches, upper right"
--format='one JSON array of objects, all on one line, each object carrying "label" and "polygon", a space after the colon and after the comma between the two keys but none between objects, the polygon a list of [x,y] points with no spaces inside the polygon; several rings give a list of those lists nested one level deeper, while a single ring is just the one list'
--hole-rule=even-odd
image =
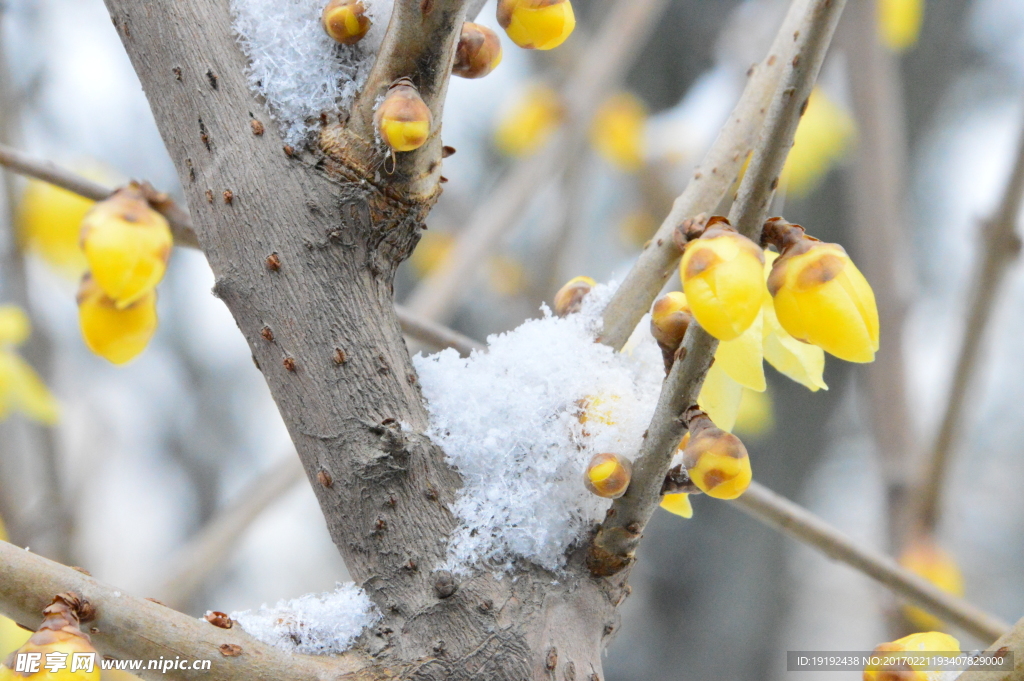
[{"label": "blurred pale yellow flower right of the slanting branches, upper right", "polygon": [[821,88],[814,88],[782,168],[786,194],[804,197],[817,187],[846,155],[854,132],[853,117]]}]

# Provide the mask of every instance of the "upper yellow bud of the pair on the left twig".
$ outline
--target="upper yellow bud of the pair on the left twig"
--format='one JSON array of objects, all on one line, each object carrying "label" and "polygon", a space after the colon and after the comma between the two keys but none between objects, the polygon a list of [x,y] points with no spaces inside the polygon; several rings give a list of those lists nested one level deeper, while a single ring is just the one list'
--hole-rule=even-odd
[{"label": "upper yellow bud of the pair on the left twig", "polygon": [[82,248],[92,278],[119,307],[156,288],[172,246],[167,220],[134,182],[96,204],[82,221]]}]

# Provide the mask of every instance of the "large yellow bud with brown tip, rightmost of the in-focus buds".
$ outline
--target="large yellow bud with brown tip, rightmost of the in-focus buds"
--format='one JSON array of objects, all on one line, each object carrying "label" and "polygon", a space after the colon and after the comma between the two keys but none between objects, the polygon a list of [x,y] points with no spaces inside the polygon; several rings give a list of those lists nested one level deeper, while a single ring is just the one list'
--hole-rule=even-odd
[{"label": "large yellow bud with brown tip, rightmost of the in-focus buds", "polygon": [[782,328],[840,359],[873,361],[879,349],[874,292],[843,247],[806,237],[803,227],[780,218],[769,220],[765,233],[782,244],[768,276]]}]

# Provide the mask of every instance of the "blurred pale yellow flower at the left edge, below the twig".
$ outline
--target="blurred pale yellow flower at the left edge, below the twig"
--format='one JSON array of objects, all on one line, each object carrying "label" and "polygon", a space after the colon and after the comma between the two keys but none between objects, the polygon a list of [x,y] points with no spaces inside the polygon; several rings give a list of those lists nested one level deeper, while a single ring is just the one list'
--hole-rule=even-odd
[{"label": "blurred pale yellow flower at the left edge, below the twig", "polygon": [[56,399],[35,370],[14,347],[32,333],[32,325],[20,307],[0,305],[0,421],[11,412],[41,423],[56,423],[59,409]]}]

